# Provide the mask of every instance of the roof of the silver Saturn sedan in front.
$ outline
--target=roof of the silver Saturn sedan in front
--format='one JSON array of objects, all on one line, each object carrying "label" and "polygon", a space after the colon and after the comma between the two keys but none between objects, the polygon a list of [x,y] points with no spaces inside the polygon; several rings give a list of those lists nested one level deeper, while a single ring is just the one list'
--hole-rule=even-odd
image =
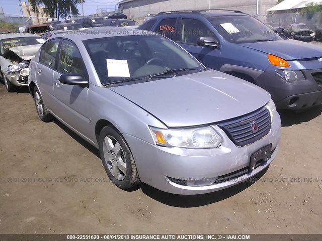
[{"label": "roof of the silver Saturn sedan in front", "polygon": [[[138,30],[125,29],[122,27],[96,27],[86,30],[66,31],[61,37],[77,40],[99,39],[104,37],[127,36],[127,35],[157,35],[157,33]],[[59,36],[60,37],[60,36]]]}]

